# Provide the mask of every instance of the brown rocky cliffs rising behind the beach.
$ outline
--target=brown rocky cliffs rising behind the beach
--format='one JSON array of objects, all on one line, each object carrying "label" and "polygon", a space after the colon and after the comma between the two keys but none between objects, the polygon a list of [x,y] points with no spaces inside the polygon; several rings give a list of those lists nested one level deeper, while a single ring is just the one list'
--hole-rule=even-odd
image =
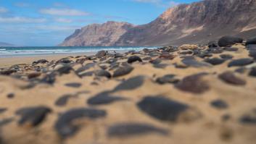
[{"label": "brown rocky cliffs rising behind the beach", "polygon": [[146,25],[107,22],[97,25],[99,33],[95,27],[76,30],[62,46],[165,46],[207,43],[223,35],[248,38],[256,33],[256,0],[181,4]]}]

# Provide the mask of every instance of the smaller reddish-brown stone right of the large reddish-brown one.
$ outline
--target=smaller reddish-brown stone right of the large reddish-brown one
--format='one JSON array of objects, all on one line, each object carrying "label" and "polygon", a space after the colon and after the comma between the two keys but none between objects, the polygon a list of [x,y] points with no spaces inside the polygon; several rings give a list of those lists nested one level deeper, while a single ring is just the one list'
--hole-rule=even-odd
[{"label": "smaller reddish-brown stone right of the large reddish-brown one", "polygon": [[232,72],[223,72],[218,76],[220,80],[232,85],[246,85],[246,81],[236,77]]}]

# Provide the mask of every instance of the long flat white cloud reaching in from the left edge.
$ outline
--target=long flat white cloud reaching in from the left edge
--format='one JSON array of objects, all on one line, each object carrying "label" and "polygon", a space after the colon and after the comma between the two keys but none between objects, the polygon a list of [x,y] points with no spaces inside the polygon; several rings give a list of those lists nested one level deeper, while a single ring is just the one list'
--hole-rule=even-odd
[{"label": "long flat white cloud reaching in from the left edge", "polygon": [[47,20],[44,18],[31,17],[0,17],[1,23],[42,23]]}]

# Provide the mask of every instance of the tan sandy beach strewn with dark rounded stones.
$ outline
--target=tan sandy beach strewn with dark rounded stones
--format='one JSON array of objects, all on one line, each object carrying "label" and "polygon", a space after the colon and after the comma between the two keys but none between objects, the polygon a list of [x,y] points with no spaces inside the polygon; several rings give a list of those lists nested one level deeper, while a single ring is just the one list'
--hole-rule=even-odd
[{"label": "tan sandy beach strewn with dark rounded stones", "polygon": [[[68,64],[57,64],[59,57],[49,56],[44,57],[49,63],[33,66],[30,64],[36,57],[21,60],[1,59],[1,67],[10,66],[17,60],[25,65],[20,65],[18,71],[11,75],[0,75],[0,109],[6,109],[0,113],[0,140],[2,143],[35,144],[255,143],[256,78],[248,75],[255,63],[242,66],[243,72],[235,72],[241,67],[228,67],[234,59],[249,58],[244,45],[238,44],[234,47],[237,51],[221,52],[231,54],[233,59],[227,59],[215,66],[203,62],[204,59],[199,56],[194,56],[197,62],[201,62],[199,67],[183,64],[184,56],[192,54],[181,54],[184,51],[181,49],[171,51],[172,48],[165,48],[165,51],[157,49],[123,54],[118,56],[117,62],[112,55],[102,58],[69,57],[67,59],[72,62]],[[207,47],[198,49],[206,51]],[[139,56],[143,62],[133,58],[135,62],[127,64],[130,56]],[[145,59],[146,57],[149,59]],[[220,58],[220,54],[212,52],[211,57]],[[157,58],[161,59],[160,64],[149,62]],[[52,59],[55,61],[50,62]],[[78,59],[85,61],[79,63]],[[91,63],[96,64],[78,72],[80,67],[85,67],[86,64],[89,66]],[[41,75],[28,80],[28,75],[36,72],[38,67],[41,68],[38,70]],[[72,67],[73,70],[59,70],[62,67]],[[97,73],[103,68],[104,72],[110,72],[113,76],[118,67],[133,67],[133,70],[128,74],[110,78],[105,73],[103,77]],[[1,70],[3,71],[4,69]],[[219,75],[227,71],[235,76],[231,82],[219,78]],[[56,80],[51,82],[47,79],[43,82],[44,77],[53,74],[52,72],[56,73],[53,76]],[[195,80],[189,79],[189,82],[184,78],[202,72],[207,74],[196,76]],[[176,75],[179,82],[163,85],[157,82],[158,77],[170,74]],[[79,85],[67,86],[70,82]],[[99,98],[97,104],[89,102],[90,98],[102,92],[105,92],[104,98],[111,97],[112,101]],[[59,102],[59,98],[67,94],[70,97],[66,103]],[[153,101],[145,102],[146,98],[153,98]],[[224,102],[224,106],[220,103],[212,106],[212,101],[217,100]],[[51,112],[37,111],[35,107],[38,106],[45,106]],[[23,119],[25,123],[20,122],[22,116],[16,114],[22,108],[30,109],[30,113],[23,117],[27,118]],[[75,109],[94,111],[80,114]],[[69,118],[74,119],[68,123],[63,115],[70,110],[76,111],[72,113],[74,115],[79,113],[79,117],[70,114]],[[63,129],[56,127],[59,120],[63,120]],[[35,126],[33,122],[38,124]],[[70,130],[74,130],[72,135]],[[63,136],[61,132],[68,135]]]}]

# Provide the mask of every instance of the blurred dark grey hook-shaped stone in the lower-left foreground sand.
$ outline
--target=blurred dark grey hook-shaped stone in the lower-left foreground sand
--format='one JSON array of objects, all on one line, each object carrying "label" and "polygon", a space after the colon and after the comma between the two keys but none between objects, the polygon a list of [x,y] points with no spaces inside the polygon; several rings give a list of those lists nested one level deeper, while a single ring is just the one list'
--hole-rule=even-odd
[{"label": "blurred dark grey hook-shaped stone in the lower-left foreground sand", "polygon": [[99,109],[71,109],[59,117],[54,128],[57,130],[60,137],[66,138],[75,135],[75,132],[79,130],[79,126],[77,124],[73,124],[76,119],[87,118],[94,120],[105,117],[106,115],[106,111]]}]

